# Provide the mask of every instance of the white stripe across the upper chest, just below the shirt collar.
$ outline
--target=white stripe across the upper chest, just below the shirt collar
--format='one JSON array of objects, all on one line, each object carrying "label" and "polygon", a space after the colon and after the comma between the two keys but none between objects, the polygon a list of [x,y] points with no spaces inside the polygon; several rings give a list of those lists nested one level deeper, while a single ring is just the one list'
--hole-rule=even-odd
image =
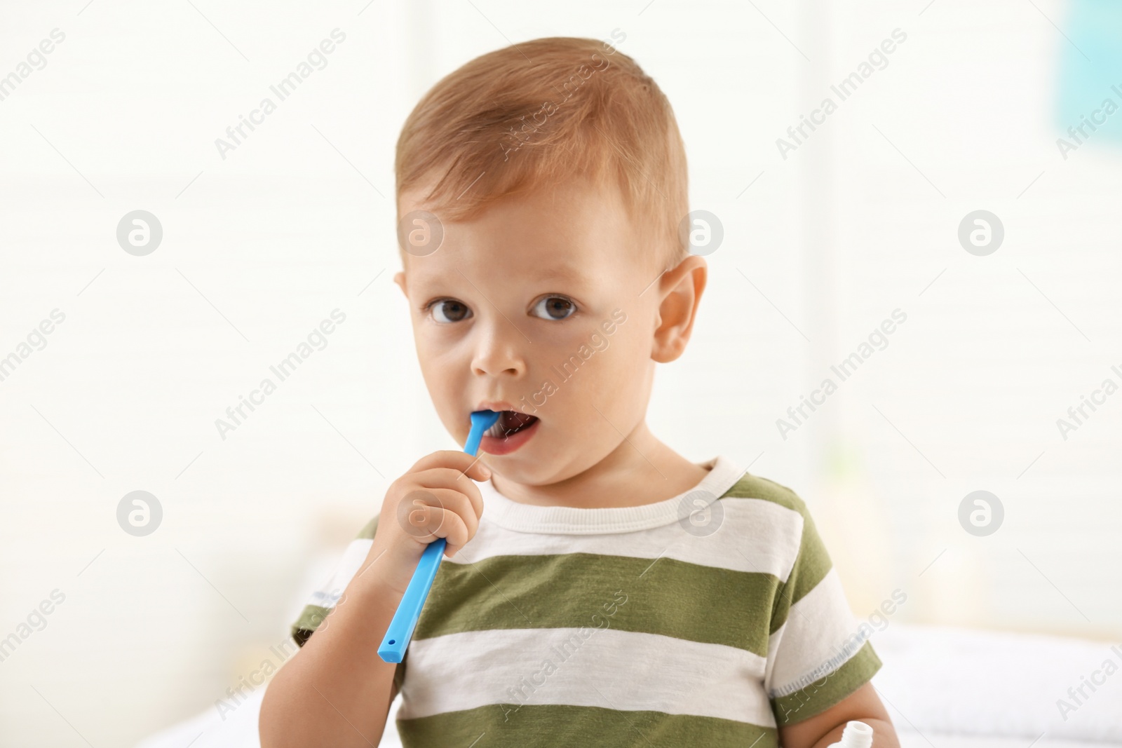
[{"label": "white stripe across the upper chest, just below the shirt collar", "polygon": [[[802,515],[764,499],[719,499],[723,517],[711,535],[691,535],[679,523],[662,527],[604,535],[544,535],[506,529],[487,520],[444,563],[478,563],[506,555],[594,553],[633,558],[675,558],[702,566],[761,572],[785,582],[799,555]],[[716,509],[710,509],[716,511]]]}]

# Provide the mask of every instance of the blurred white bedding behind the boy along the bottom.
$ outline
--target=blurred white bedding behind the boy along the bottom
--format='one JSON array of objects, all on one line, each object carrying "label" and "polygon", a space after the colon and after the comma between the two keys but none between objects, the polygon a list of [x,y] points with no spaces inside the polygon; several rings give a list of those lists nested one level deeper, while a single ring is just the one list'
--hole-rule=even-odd
[{"label": "blurred white bedding behind the boy along the bottom", "polygon": [[[1122,669],[1065,720],[1069,699],[1122,646],[1050,636],[980,631],[893,622],[873,636],[884,667],[873,685],[889,709],[902,748],[1102,748],[1122,746]],[[211,707],[153,735],[137,748],[259,748],[257,715],[265,689],[223,722]],[[394,715],[380,746],[399,747]],[[192,742],[193,741],[193,742]]]}]

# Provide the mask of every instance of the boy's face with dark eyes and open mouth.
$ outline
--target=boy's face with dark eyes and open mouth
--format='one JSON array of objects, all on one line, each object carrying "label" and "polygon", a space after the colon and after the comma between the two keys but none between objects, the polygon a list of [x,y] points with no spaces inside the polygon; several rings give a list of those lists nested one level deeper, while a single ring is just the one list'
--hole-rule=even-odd
[{"label": "boy's face with dark eyes and open mouth", "polygon": [[[427,209],[421,194],[403,193],[402,215]],[[395,281],[449,433],[462,444],[472,410],[511,412],[498,424],[506,435],[485,436],[480,453],[530,486],[628,449],[625,436],[645,416],[652,355],[669,359],[655,334],[663,268],[654,248],[637,246],[618,190],[546,187],[442,225],[440,248],[405,253]]]}]

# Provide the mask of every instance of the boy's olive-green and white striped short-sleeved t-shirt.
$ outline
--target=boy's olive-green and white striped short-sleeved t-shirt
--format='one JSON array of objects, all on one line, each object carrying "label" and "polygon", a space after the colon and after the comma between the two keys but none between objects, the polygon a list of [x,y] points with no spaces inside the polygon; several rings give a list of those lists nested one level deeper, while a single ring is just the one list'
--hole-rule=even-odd
[{"label": "boy's olive-green and white striped short-sleeved t-shirt", "polygon": [[[779,745],[881,661],[807,507],[718,456],[637,507],[515,502],[479,483],[479,529],[444,558],[394,681],[405,748]],[[373,543],[313,593],[303,646]]]}]

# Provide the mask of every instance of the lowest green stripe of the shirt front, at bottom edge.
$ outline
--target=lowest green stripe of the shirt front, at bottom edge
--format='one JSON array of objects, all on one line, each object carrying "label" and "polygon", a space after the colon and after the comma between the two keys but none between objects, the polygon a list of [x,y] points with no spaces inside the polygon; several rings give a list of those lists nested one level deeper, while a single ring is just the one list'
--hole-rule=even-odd
[{"label": "lowest green stripe of the shirt front, at bottom edge", "polygon": [[735,720],[564,704],[493,704],[411,720],[398,719],[397,731],[405,748],[526,748],[544,745],[776,748],[779,745],[775,728]]}]

